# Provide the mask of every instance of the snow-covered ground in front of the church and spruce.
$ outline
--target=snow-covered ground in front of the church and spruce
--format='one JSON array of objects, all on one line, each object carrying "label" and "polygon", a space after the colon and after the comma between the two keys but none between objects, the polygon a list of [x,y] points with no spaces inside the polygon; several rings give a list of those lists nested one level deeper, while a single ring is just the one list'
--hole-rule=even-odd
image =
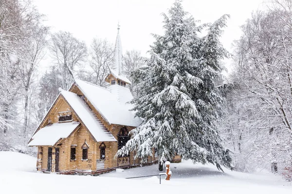
[{"label": "snow-covered ground in front of the church and spruce", "polygon": [[222,173],[189,161],[172,163],[172,179],[161,185],[157,177],[125,179],[159,174],[157,165],[91,177],[37,173],[35,164],[36,158],[0,152],[0,194],[292,194],[292,184],[273,174]]}]

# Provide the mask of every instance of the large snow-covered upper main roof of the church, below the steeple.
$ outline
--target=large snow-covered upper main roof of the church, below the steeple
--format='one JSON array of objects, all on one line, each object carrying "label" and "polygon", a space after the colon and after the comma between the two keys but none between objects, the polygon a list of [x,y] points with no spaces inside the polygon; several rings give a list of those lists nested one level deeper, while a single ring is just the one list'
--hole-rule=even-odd
[{"label": "large snow-covered upper main roof of the church, below the steeple", "polygon": [[[133,98],[128,88],[116,85],[106,89],[87,81],[75,80],[75,82],[108,123],[132,127],[138,127],[142,123],[140,117],[135,117],[134,112],[129,111],[130,105],[125,104],[125,101]],[[113,91],[117,88],[118,90]],[[118,93],[120,99],[117,98]]]}]

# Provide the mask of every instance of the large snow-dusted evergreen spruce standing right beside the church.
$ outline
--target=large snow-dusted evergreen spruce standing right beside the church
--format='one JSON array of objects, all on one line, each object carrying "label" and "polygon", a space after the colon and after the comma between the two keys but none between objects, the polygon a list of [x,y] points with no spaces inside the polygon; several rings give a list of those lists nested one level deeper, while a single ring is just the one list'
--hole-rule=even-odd
[{"label": "large snow-dusted evergreen spruce standing right beside the church", "polygon": [[[154,34],[147,65],[134,72],[141,95],[131,103],[144,122],[130,132],[132,138],[117,155],[135,150],[136,158],[145,159],[155,148],[161,163],[179,154],[229,167],[229,150],[222,147],[215,124],[222,98],[214,84],[221,72],[219,61],[227,56],[219,36],[228,16],[198,27],[180,0],[163,16],[164,35]],[[208,33],[199,37],[203,27]]]}]

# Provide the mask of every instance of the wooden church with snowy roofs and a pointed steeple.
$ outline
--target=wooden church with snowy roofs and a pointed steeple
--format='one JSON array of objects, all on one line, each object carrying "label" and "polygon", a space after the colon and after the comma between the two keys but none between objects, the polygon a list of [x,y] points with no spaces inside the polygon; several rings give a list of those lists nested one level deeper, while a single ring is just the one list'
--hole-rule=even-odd
[{"label": "wooden church with snowy roofs and a pointed steeple", "polygon": [[[134,160],[135,153],[114,157],[129,140],[129,131],[142,123],[126,104],[133,96],[123,75],[119,28],[106,81],[108,88],[75,80],[68,91],[60,91],[28,144],[38,148],[37,171],[96,175],[142,164]],[[153,152],[143,164],[156,162]]]}]

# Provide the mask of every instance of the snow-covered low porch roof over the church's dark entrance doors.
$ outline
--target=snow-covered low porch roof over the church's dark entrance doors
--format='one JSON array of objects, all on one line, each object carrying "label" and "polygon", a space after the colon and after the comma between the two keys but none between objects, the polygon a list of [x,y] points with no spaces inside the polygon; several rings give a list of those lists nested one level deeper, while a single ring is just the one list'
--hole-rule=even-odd
[{"label": "snow-covered low porch roof over the church's dark entrance doors", "polygon": [[55,123],[37,131],[28,146],[54,146],[61,138],[67,138],[79,122]]}]

